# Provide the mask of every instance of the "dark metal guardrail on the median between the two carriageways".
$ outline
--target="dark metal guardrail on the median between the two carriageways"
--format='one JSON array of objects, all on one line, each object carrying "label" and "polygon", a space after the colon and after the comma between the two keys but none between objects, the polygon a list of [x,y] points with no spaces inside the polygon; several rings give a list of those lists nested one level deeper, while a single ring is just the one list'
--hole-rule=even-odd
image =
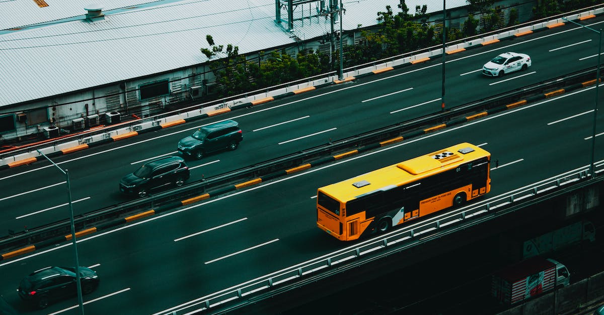
[{"label": "dark metal guardrail on the median between the two carriageways", "polygon": [[[76,230],[82,231],[91,226],[91,224],[98,224],[100,221],[123,217],[125,214],[140,211],[141,209],[153,209],[154,207],[161,205],[176,203],[176,200],[184,200],[188,197],[199,196],[199,194],[205,193],[208,189],[216,188],[221,185],[228,185],[237,180],[249,180],[259,176],[265,176],[276,171],[283,171],[289,167],[303,165],[308,161],[323,158],[328,154],[350,150],[352,147],[359,148],[364,145],[376,144],[381,141],[396,138],[397,136],[402,135],[403,132],[409,132],[409,130],[421,131],[422,127],[425,128],[426,126],[434,126],[436,124],[452,121],[452,119],[466,115],[467,113],[475,113],[479,110],[496,109],[505,106],[505,104],[518,101],[522,97],[527,97],[528,95],[542,94],[542,92],[547,91],[548,89],[555,89],[569,84],[578,84],[577,82],[585,80],[593,80],[595,72],[596,68],[584,69],[582,71],[577,71],[574,74],[568,74],[538,84],[533,84],[533,86],[528,86],[527,88],[518,91],[504,92],[503,94],[454,107],[445,112],[434,112],[420,118],[411,119],[410,121],[353,135],[345,139],[333,141],[329,144],[318,145],[314,148],[298,151],[297,153],[281,156],[280,158],[261,162],[259,164],[250,165],[209,179],[199,180],[198,182],[193,182],[181,188],[159,193],[147,197],[146,199],[133,200],[103,209],[97,209],[86,214],[77,215],[74,218]],[[0,250],[10,250],[20,246],[27,246],[28,244],[69,234],[70,231],[69,220],[65,218],[64,220],[45,224],[44,226],[37,228],[30,228],[28,231],[16,232],[2,237],[0,238]]]}]

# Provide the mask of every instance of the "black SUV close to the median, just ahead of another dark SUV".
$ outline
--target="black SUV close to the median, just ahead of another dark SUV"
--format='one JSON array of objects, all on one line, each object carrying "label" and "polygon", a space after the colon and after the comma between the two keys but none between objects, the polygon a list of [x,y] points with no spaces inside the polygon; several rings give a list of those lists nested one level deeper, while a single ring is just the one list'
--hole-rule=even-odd
[{"label": "black SUV close to the median, just ahead of another dark SUV", "polygon": [[120,180],[120,190],[145,197],[149,191],[171,184],[180,187],[190,176],[187,164],[179,156],[167,156],[143,164]]}]

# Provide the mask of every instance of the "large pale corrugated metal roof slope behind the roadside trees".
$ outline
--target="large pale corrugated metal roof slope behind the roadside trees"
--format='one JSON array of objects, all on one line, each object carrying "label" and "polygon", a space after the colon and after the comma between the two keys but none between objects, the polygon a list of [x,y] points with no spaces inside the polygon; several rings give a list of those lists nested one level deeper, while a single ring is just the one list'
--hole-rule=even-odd
[{"label": "large pale corrugated metal roof slope behind the roadside trees", "polygon": [[[390,2],[345,1],[344,29],[376,24],[377,11]],[[102,22],[80,19],[0,34],[0,106],[203,63],[207,59],[199,49],[209,48],[207,34],[219,45],[239,46],[240,54],[295,43],[275,25],[274,5],[274,0],[155,2],[106,13]],[[324,18],[301,24],[296,22],[294,32],[300,39],[329,30]]]}]

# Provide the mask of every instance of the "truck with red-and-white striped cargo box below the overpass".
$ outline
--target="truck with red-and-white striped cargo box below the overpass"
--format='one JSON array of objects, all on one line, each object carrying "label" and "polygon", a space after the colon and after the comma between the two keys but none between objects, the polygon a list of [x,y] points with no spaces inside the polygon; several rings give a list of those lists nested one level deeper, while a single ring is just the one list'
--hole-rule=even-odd
[{"label": "truck with red-and-white striped cargo box below the overpass", "polygon": [[554,259],[533,257],[493,274],[491,295],[513,305],[570,284],[570,273]]}]

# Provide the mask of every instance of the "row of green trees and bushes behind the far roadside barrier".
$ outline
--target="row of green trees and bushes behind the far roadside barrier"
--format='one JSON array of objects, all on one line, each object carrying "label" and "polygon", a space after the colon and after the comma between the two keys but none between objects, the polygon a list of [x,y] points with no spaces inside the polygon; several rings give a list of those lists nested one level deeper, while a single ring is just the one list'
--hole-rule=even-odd
[{"label": "row of green trees and bushes behind the far roadside barrier", "polygon": [[[466,1],[471,13],[461,29],[442,30],[446,34],[447,42],[475,36],[479,30],[487,32],[503,26],[501,15],[492,8],[495,0]],[[594,5],[599,1],[601,0],[536,0],[533,13],[535,18],[541,18]],[[361,30],[362,40],[356,45],[344,46],[344,68],[442,43],[443,33],[437,33],[433,25],[425,23],[426,5],[416,5],[415,13],[410,14],[405,0],[398,2],[399,12],[394,13],[388,5],[385,11],[377,12],[377,28]],[[483,17],[483,25],[479,25],[480,20],[472,14],[475,12]],[[518,24],[518,15],[516,8],[510,9],[509,26]],[[361,26],[358,25],[358,28]],[[239,47],[231,44],[216,45],[209,34],[205,39],[209,48],[200,50],[211,60],[210,69],[216,76],[220,97],[242,94],[339,69],[338,50],[333,51],[331,56],[312,50],[300,51],[295,58],[284,52],[274,51],[268,56],[260,52],[259,59],[246,60],[245,56],[239,56]]]}]

